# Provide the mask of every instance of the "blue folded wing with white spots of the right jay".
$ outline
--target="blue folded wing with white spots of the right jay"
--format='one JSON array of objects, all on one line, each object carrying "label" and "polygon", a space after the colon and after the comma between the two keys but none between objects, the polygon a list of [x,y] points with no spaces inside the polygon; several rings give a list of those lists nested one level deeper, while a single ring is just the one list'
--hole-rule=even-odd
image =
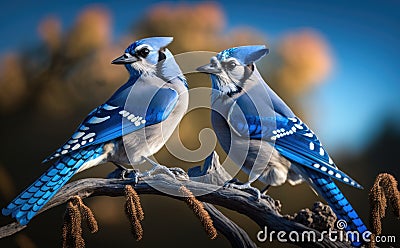
[{"label": "blue folded wing with white spots of the right jay", "polygon": [[231,111],[231,127],[241,136],[275,142],[284,157],[356,188],[362,186],[340,171],[318,137],[298,117],[260,117],[237,101],[241,111]]}]

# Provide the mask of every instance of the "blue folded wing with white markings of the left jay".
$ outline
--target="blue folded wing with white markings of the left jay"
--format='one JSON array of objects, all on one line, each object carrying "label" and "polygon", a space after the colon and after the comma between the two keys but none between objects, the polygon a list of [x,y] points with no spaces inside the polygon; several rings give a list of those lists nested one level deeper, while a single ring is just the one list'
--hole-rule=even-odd
[{"label": "blue folded wing with white markings of the left jay", "polygon": [[[125,91],[119,92],[117,96],[111,97],[105,104],[90,112],[71,138],[43,163],[89,145],[108,142],[160,123],[169,116],[178,101],[175,90],[160,88],[148,106],[130,104],[129,110],[125,110],[123,99],[127,98],[128,89]],[[125,96],[121,97],[122,94]]]}]

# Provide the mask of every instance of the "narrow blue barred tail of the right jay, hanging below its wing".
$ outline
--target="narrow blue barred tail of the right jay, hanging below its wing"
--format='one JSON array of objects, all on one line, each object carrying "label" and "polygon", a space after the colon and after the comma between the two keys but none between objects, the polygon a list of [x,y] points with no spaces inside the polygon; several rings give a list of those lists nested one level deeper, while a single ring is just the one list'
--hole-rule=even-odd
[{"label": "narrow blue barred tail of the right jay, hanging below its wing", "polygon": [[354,234],[351,234],[348,235],[348,238],[352,242],[353,246],[360,246],[363,242],[362,234],[367,231],[367,227],[364,225],[360,217],[358,217],[356,211],[353,209],[349,201],[330,177],[309,169],[306,170],[307,175],[312,180],[313,188],[329,204],[329,206],[335,212],[338,220],[346,221],[347,226],[345,230],[358,232],[358,235],[354,236]]}]

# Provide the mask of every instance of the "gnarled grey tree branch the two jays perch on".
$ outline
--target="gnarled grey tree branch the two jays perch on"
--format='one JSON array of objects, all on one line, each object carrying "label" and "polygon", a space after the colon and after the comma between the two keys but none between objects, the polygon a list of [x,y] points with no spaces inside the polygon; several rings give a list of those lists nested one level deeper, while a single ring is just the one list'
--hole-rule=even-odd
[{"label": "gnarled grey tree branch the two jays perch on", "polygon": [[[290,221],[282,217],[278,211],[275,201],[265,196],[259,201],[254,200],[254,197],[244,191],[222,188],[220,184],[223,180],[216,180],[217,174],[221,174],[222,178],[226,177],[226,174],[222,173],[222,166],[220,166],[218,156],[216,153],[210,155],[208,162],[205,162],[204,170],[208,174],[212,174],[211,177],[202,177],[203,181],[213,181],[215,184],[209,184],[204,182],[196,182],[196,178],[192,177],[191,180],[177,180],[164,174],[156,174],[151,177],[140,179],[137,184],[134,184],[133,180],[122,180],[122,179],[100,179],[100,178],[87,178],[71,182],[65,185],[55,196],[52,198],[44,208],[39,211],[38,214],[51,209],[55,206],[67,202],[72,196],[80,196],[83,198],[93,196],[124,196],[125,185],[131,184],[138,194],[155,194],[162,195],[178,200],[183,200],[179,197],[179,189],[181,186],[185,186],[187,189],[192,191],[200,201],[207,202],[210,204],[216,204],[241,214],[244,214],[256,222],[261,230],[267,227],[268,231],[285,231],[289,233],[296,231],[301,235],[302,232],[314,232],[317,239],[321,237],[321,233],[317,230],[311,229],[299,223]],[[198,171],[198,170],[197,170]],[[223,171],[225,172],[225,171]],[[216,173],[216,174],[213,174]],[[225,172],[226,173],[226,172]],[[194,174],[189,170],[189,175]],[[176,192],[175,195],[165,194],[157,189],[163,191]],[[225,217],[221,212],[216,210],[213,206],[205,204],[206,209],[210,212],[210,215],[215,221],[216,228],[224,234],[228,239],[235,238],[235,242],[241,242],[245,244],[245,247],[254,247],[255,244],[248,235],[231,220]],[[10,236],[26,226],[21,226],[17,222],[11,223],[7,226],[0,227],[0,238]],[[231,236],[227,235],[227,232],[235,232]],[[232,240],[230,240],[232,242]],[[290,242],[288,240],[288,242]],[[310,242],[299,243],[291,242],[300,247],[351,247],[350,244],[332,242],[328,238],[322,241],[312,240]],[[236,244],[238,245],[238,244]],[[235,245],[235,246],[236,246]]]}]

